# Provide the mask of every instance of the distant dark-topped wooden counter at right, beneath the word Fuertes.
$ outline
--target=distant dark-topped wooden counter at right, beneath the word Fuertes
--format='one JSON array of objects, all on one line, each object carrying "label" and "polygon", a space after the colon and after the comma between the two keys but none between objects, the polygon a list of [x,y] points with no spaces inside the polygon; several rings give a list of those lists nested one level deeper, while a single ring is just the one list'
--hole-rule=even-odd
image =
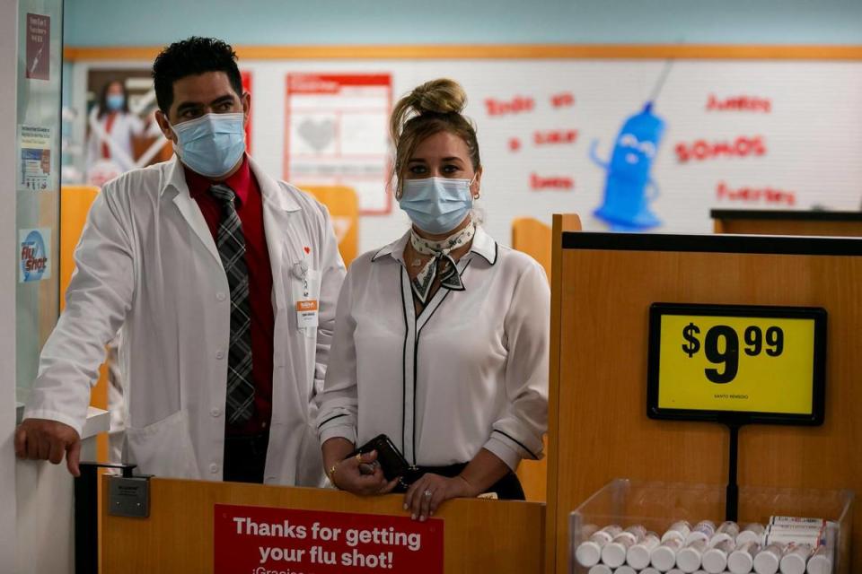
[{"label": "distant dark-topped wooden counter at right, beneath the word Fuertes", "polygon": [[862,212],[713,209],[716,233],[862,237]]}]

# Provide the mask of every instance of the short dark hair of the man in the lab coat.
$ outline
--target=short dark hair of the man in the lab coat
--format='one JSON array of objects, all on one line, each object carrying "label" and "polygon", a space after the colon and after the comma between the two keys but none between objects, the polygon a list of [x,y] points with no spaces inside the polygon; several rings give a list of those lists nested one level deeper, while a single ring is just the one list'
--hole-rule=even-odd
[{"label": "short dark hair of the man in the lab coat", "polygon": [[173,83],[189,75],[224,72],[238,96],[242,96],[242,77],[231,45],[216,38],[192,36],[174,42],[155,57],[153,83],[155,100],[165,114],[173,104]]}]

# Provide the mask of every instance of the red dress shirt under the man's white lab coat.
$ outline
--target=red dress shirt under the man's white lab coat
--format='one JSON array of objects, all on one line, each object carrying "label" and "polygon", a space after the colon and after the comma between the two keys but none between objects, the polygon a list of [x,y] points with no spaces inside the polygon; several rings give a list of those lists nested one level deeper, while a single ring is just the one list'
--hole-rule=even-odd
[{"label": "red dress shirt under the man's white lab coat", "polygon": [[[183,166],[192,199],[207,220],[213,239],[224,216],[223,204],[209,193],[213,182]],[[245,265],[249,269],[251,308],[251,377],[254,379],[255,411],[248,422],[225,425],[225,433],[252,435],[268,430],[272,418],[272,352],[275,317],[272,310],[272,267],[263,230],[263,198],[246,156],[240,169],[224,185],[236,194],[234,204],[245,237]]]}]

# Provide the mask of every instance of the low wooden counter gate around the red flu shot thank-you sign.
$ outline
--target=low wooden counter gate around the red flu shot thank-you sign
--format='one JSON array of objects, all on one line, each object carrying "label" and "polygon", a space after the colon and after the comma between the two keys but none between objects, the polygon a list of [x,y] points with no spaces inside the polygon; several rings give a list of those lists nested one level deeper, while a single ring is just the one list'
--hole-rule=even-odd
[{"label": "low wooden counter gate around the red flu shot thank-you sign", "polygon": [[[103,476],[101,480],[103,574],[213,572],[216,504],[409,516],[401,507],[401,495],[361,498],[331,489],[152,478],[149,517],[116,517],[108,509],[110,481],[117,477]],[[435,518],[444,521],[446,574],[541,572],[543,504],[449,500]],[[276,571],[303,571],[287,566]]]}]

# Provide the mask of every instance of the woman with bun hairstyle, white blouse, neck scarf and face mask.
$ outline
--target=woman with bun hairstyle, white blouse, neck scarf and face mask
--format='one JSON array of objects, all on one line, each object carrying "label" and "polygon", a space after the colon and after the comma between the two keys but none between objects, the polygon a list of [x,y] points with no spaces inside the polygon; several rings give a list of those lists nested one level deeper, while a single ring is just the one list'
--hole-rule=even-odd
[{"label": "woman with bun hairstyle, white blouse, neck scarf and face mask", "polygon": [[[479,143],[452,80],[424,83],[392,112],[396,197],[412,227],[350,266],[318,431],[330,483],[405,492],[420,520],[455,497],[523,500],[514,471],[547,427],[550,289],[531,257],[497,244],[472,206]],[[387,482],[387,435],[409,465]]]}]

